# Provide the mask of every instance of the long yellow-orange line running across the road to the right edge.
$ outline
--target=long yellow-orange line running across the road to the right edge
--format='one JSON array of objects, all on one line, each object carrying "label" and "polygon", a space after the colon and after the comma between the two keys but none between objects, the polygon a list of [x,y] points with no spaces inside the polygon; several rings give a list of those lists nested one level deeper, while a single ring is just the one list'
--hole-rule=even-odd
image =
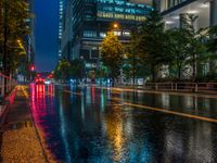
[{"label": "long yellow-orange line running across the road to the right edge", "polygon": [[165,109],[161,109],[161,108],[153,108],[153,106],[136,104],[136,103],[130,103],[130,102],[124,102],[122,99],[118,99],[118,98],[112,98],[112,100],[119,101],[123,104],[128,105],[128,106],[140,108],[140,109],[145,109],[145,110],[155,111],[155,112],[163,112],[166,114],[174,114],[174,115],[178,115],[178,116],[217,123],[216,118],[204,117],[204,116],[200,116],[200,115],[192,115],[192,114],[187,114],[187,113],[180,113],[180,112],[176,112],[176,111],[169,111],[169,110],[165,110]]}]

